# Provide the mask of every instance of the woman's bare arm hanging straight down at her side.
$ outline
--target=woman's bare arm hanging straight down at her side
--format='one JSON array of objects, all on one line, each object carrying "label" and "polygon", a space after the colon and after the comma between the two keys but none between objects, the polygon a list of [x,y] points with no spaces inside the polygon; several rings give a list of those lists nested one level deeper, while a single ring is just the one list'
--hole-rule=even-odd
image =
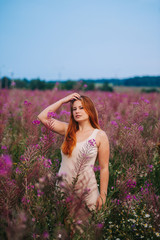
[{"label": "woman's bare arm hanging straight down at her side", "polygon": [[97,199],[96,208],[100,209],[106,202],[109,182],[109,141],[104,131],[99,132],[98,160],[100,166],[100,195]]}]

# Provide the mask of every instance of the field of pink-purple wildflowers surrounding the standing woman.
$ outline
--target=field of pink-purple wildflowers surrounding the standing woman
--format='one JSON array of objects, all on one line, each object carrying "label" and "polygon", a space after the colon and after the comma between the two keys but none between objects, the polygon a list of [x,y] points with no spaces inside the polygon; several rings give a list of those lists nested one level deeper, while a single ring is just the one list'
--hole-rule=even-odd
[{"label": "field of pink-purple wildflowers surrounding the standing woman", "polygon": [[[62,193],[63,138],[37,115],[71,91],[0,90],[0,239],[159,239],[160,94],[85,92],[110,142],[107,201],[73,221],[82,199]],[[79,92],[82,94],[82,92]],[[68,121],[69,104],[56,118]],[[97,163],[96,163],[97,164]],[[95,174],[99,183],[99,166]]]}]

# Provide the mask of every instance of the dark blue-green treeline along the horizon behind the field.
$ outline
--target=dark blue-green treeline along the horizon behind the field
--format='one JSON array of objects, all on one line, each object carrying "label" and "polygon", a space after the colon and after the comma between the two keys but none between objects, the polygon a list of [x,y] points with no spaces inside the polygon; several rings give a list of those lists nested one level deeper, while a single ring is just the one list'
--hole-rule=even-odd
[{"label": "dark blue-green treeline along the horizon behind the field", "polygon": [[10,79],[3,77],[0,81],[1,88],[22,88],[22,89],[39,89],[47,90],[57,87],[58,89],[66,90],[101,90],[113,91],[113,86],[128,86],[128,87],[160,87],[160,76],[143,76],[127,79],[80,79],[66,81],[45,81],[38,79]]}]

